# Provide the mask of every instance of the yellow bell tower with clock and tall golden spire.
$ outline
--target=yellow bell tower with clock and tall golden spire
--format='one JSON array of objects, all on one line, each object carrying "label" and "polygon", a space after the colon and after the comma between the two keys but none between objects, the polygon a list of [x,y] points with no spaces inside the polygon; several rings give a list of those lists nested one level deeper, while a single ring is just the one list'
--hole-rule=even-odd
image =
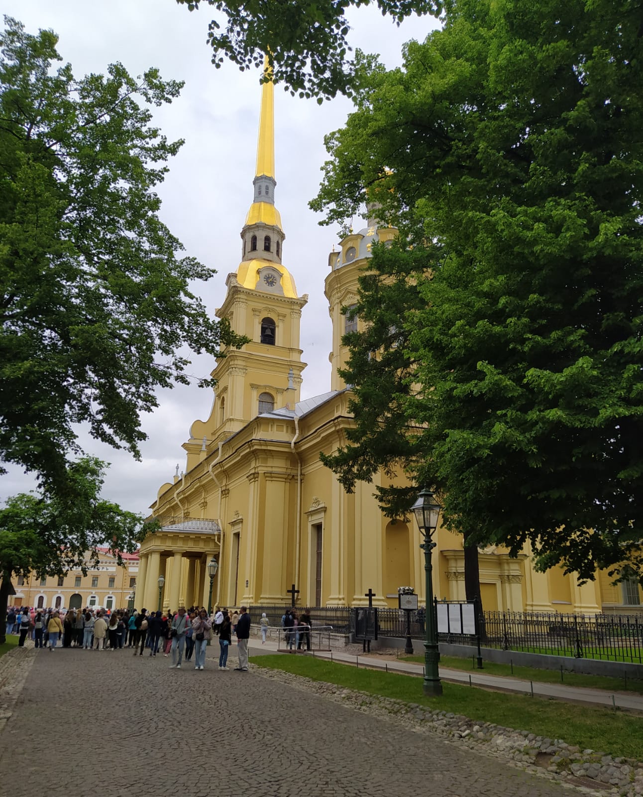
[{"label": "yellow bell tower with clock and tall golden spire", "polygon": [[275,206],[275,87],[266,57],[261,89],[259,136],[253,197],[241,230],[242,261],[228,274],[226,296],[216,315],[250,339],[241,349],[228,348],[212,371],[215,397],[207,421],[190,429],[188,470],[212,446],[230,437],[257,415],[294,408],[302,385],[299,325],[308,296],[297,295],[283,265],[281,216]]}]

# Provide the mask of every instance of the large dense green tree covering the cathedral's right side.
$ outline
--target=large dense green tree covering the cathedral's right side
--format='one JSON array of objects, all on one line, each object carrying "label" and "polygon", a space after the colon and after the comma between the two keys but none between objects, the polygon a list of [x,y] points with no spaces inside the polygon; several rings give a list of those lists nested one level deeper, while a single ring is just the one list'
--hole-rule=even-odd
[{"label": "large dense green tree covering the cathedral's right side", "polygon": [[376,200],[414,247],[416,483],[472,544],[583,579],[643,577],[642,41],[629,0],[454,0],[402,69],[368,70],[313,203]]}]

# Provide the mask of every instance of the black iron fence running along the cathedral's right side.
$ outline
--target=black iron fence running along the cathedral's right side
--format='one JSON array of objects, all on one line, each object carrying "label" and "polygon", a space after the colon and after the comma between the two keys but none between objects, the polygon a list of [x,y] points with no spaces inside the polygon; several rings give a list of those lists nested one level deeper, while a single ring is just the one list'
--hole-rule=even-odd
[{"label": "black iron fence running along the cathedral's right side", "polygon": [[[271,626],[281,626],[283,604],[251,606],[252,622],[265,612]],[[302,614],[302,607],[296,607]],[[426,633],[424,609],[411,613],[411,636]],[[312,607],[313,628],[329,627],[336,634],[355,631],[356,611],[350,607]],[[380,637],[403,638],[407,634],[407,613],[378,608]],[[643,663],[643,614],[559,614],[556,612],[485,611],[477,617],[483,647],[520,650],[524,653],[597,658],[614,662]],[[438,634],[440,642],[475,644],[472,634]]]}]

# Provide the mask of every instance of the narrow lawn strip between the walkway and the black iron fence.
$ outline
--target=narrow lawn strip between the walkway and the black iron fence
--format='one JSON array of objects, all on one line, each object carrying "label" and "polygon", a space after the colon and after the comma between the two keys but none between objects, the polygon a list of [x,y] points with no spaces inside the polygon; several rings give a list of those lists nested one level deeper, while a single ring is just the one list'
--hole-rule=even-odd
[{"label": "narrow lawn strip between the walkway and the black iron fence", "polygon": [[[417,662],[424,664],[423,656],[400,656],[400,662]],[[544,684],[561,683],[560,670],[537,669],[536,667],[519,667],[513,665],[513,673],[509,664],[484,662],[484,669],[477,669],[473,659],[457,656],[440,656],[440,665],[450,669],[463,669],[471,673],[487,673],[488,675],[505,675],[522,678],[524,681],[539,681]],[[605,677],[602,675],[583,675],[581,673],[563,672],[562,682],[567,686],[586,686],[590,689],[607,689],[610,692],[637,692],[643,694],[643,681],[628,678]]]}]

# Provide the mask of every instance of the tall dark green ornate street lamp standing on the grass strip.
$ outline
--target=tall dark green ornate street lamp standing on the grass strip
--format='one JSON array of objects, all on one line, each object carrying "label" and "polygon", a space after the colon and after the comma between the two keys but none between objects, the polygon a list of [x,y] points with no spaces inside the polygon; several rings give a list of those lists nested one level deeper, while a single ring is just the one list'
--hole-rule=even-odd
[{"label": "tall dark green ornate street lamp standing on the grass strip", "polygon": [[438,671],[440,649],[438,648],[438,628],[435,624],[435,604],[433,601],[433,566],[431,552],[435,542],[431,539],[433,532],[438,528],[438,517],[442,507],[435,501],[435,496],[426,487],[419,491],[417,501],[411,507],[418,522],[423,544],[420,548],[424,551],[424,573],[426,575],[427,596],[427,638],[424,642],[424,694],[438,697],[442,694],[442,683]]}]

